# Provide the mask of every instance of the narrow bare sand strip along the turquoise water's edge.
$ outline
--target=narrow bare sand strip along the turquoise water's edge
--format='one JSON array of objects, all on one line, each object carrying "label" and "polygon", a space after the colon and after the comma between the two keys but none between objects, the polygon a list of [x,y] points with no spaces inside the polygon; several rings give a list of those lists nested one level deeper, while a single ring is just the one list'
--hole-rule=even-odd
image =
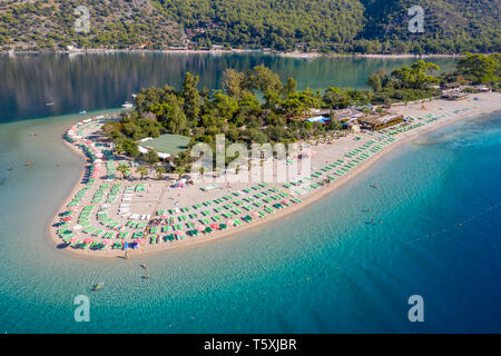
[{"label": "narrow bare sand strip along the turquoise water's edge", "polygon": [[[482,97],[482,95],[470,95],[468,101],[472,102],[472,98],[474,96],[480,96]],[[484,105],[480,105],[480,108],[473,110],[473,111],[466,111],[466,112],[461,112],[458,115],[454,115],[453,117],[446,118],[446,119],[442,119],[442,120],[438,120],[432,122],[429,126],[422,127],[420,128],[418,131],[410,131],[410,132],[405,132],[402,134],[404,135],[403,137],[399,137],[399,140],[396,140],[393,145],[389,145],[386,147],[384,147],[381,151],[374,154],[374,156],[372,156],[367,161],[364,161],[363,164],[361,164],[360,166],[356,166],[353,170],[351,170],[348,174],[346,174],[345,176],[336,179],[335,181],[333,181],[331,185],[321,188],[320,190],[316,190],[312,194],[308,194],[306,197],[302,197],[303,202],[298,204],[298,205],[294,205],[291,207],[287,207],[283,210],[276,211],[275,214],[268,215],[263,217],[262,219],[252,221],[249,224],[243,225],[242,227],[238,228],[230,228],[227,230],[217,230],[214,231],[210,235],[200,235],[198,237],[194,237],[194,238],[187,238],[184,240],[178,240],[175,244],[161,244],[161,245],[155,245],[155,246],[150,246],[148,245],[148,248],[144,248],[141,246],[141,248],[137,249],[137,250],[132,250],[129,251],[129,258],[134,258],[135,256],[143,256],[143,255],[148,255],[148,254],[154,254],[154,253],[158,253],[158,251],[166,251],[166,250],[170,250],[170,249],[181,249],[181,248],[186,248],[189,246],[193,246],[195,244],[203,244],[203,243],[208,243],[208,241],[214,241],[217,240],[219,238],[223,237],[228,237],[228,236],[233,236],[233,235],[237,235],[240,231],[247,231],[249,229],[253,228],[258,228],[261,226],[263,226],[266,222],[271,222],[274,220],[277,220],[279,218],[283,218],[289,214],[295,214],[298,210],[306,208],[307,206],[310,206],[311,204],[313,204],[314,201],[317,201],[326,196],[328,196],[330,194],[332,194],[333,191],[335,191],[338,187],[341,187],[342,185],[344,185],[345,182],[350,181],[351,179],[355,178],[358,174],[361,174],[362,171],[365,171],[366,169],[369,169],[370,167],[372,167],[375,162],[377,162],[382,157],[384,157],[385,155],[390,154],[391,151],[393,151],[395,148],[400,147],[402,144],[404,142],[409,142],[418,137],[420,137],[421,135],[425,134],[425,132],[430,132],[432,130],[439,129],[443,126],[466,119],[466,118],[472,118],[472,117],[478,117],[481,115],[485,115],[485,113],[490,113],[490,112],[495,112],[498,110],[501,109],[501,106],[498,103],[495,105],[495,97],[498,97],[498,93],[490,93],[487,97],[483,96],[484,98],[487,98],[487,101],[480,101],[483,102]],[[435,106],[440,106],[440,102],[442,100],[435,100],[434,103]],[[498,100],[499,101],[499,100]],[[491,105],[489,105],[491,103]],[[461,105],[461,103],[460,103]],[[410,111],[412,112],[412,110],[418,110],[416,107],[418,105],[413,105],[411,107],[399,107],[397,110],[402,111],[402,112],[406,112],[409,113]],[[433,109],[428,109],[426,112],[423,113],[428,113],[430,112],[430,110]],[[436,113],[436,112],[435,112]],[[69,144],[66,141],[66,145],[68,145],[70,147],[70,149],[73,150],[73,152],[78,154],[80,157],[82,156],[81,151],[73,145]],[[79,180],[81,181],[81,179],[84,178],[85,175],[85,169],[82,169]],[[63,208],[71,199],[71,197],[81,188],[81,184],[77,184],[71,192],[67,196],[67,198],[65,199],[65,201],[61,204],[60,208],[57,211],[60,211],[61,208]],[[57,218],[57,214],[56,216],[52,218],[51,222],[55,221],[55,219]],[[56,236],[56,228],[53,226],[51,226],[52,224],[50,224],[49,228],[48,228],[48,234],[50,235],[50,238],[56,243],[56,245],[61,244],[60,238],[58,238]],[[92,257],[98,257],[98,258],[124,258],[124,250],[121,249],[110,249],[110,250],[104,250],[104,251],[90,251],[90,250],[81,250],[81,249],[71,249],[71,248],[66,248],[62,250],[68,250],[69,254],[72,254],[73,256],[80,256],[80,257],[85,257],[85,258],[92,258]]]}]

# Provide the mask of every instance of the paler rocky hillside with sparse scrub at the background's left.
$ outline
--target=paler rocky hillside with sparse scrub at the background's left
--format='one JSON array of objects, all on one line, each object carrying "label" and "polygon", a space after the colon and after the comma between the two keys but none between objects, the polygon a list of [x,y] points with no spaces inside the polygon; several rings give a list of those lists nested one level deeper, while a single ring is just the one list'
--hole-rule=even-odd
[{"label": "paler rocky hillside with sparse scrub at the background's left", "polygon": [[[173,46],[185,39],[176,21],[160,14],[153,2],[137,8],[131,0],[6,0],[0,2],[0,47],[17,50],[80,48],[151,48]],[[75,9],[90,12],[90,32],[78,33]]]}]

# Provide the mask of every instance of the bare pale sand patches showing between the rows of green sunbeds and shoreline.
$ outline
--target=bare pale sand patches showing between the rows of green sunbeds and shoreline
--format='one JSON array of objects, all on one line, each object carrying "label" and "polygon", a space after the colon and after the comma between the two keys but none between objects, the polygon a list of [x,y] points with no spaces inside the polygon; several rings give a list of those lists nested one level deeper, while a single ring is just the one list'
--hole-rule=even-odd
[{"label": "bare pale sand patches showing between the rows of green sunbeds and shoreline", "polygon": [[[477,97],[480,100],[474,100],[473,98]],[[276,212],[272,214],[272,215],[267,215],[264,218],[261,219],[256,219],[253,222],[244,222],[244,225],[242,227],[229,227],[226,230],[222,230],[222,231],[214,231],[212,234],[208,235],[204,235],[204,234],[199,234],[197,237],[187,237],[183,240],[176,240],[174,243],[165,243],[161,241],[157,245],[150,245],[149,244],[149,237],[145,238],[145,244],[143,244],[138,249],[136,250],[128,250],[129,256],[135,256],[135,255],[140,255],[144,253],[153,253],[153,251],[159,251],[159,250],[164,250],[164,249],[171,249],[171,248],[186,248],[188,246],[190,246],[191,244],[197,244],[197,243],[204,243],[204,241],[209,241],[209,240],[214,240],[216,238],[220,238],[224,236],[228,236],[228,235],[233,235],[237,231],[242,231],[245,229],[249,229],[249,228],[254,228],[259,226],[261,224],[265,222],[265,221],[271,221],[277,218],[282,218],[287,214],[293,214],[304,207],[306,207],[307,205],[321,199],[323,196],[332,192],[333,190],[335,190],[337,187],[340,187],[341,185],[343,185],[345,181],[348,181],[350,179],[352,179],[353,177],[355,177],[358,172],[367,169],[371,165],[373,165],[374,162],[377,161],[379,158],[383,157],[383,155],[385,155],[386,152],[391,151],[392,149],[399,147],[400,144],[409,141],[410,139],[413,139],[415,137],[418,137],[419,135],[432,130],[432,129],[436,129],[439,127],[442,127],[444,125],[454,122],[456,120],[460,119],[464,119],[466,117],[474,117],[474,116],[479,116],[481,113],[487,113],[487,112],[492,112],[495,110],[501,110],[501,95],[500,93],[478,93],[478,95],[470,95],[468,97],[468,99],[465,100],[461,100],[461,101],[444,101],[444,100],[433,100],[431,102],[424,102],[425,108],[422,108],[423,103],[414,103],[414,105],[409,105],[409,106],[399,106],[399,107],[394,107],[391,109],[392,112],[394,113],[403,113],[405,117],[414,117],[414,118],[419,118],[419,117],[424,117],[426,115],[433,115],[434,117],[441,117],[441,116],[446,116],[443,117],[436,121],[432,121],[428,125],[424,125],[422,127],[415,128],[413,130],[410,131],[405,131],[405,132],[401,132],[396,136],[394,136],[394,138],[396,138],[396,141],[394,141],[393,144],[384,147],[384,149],[375,152],[373,156],[371,156],[369,159],[364,160],[362,164],[358,164],[357,166],[355,166],[348,174],[344,175],[341,178],[337,178],[334,182],[331,182],[328,186],[324,186],[321,187],[318,189],[314,189],[313,191],[298,196],[301,199],[303,199],[302,204],[298,205],[292,205],[287,208],[277,210]],[[473,108],[475,107],[477,109],[470,109],[468,111],[462,111],[465,108]],[[461,110],[459,112],[454,112]],[[424,120],[420,121],[414,121],[411,122],[412,123],[416,123],[416,122],[423,122]],[[389,129],[391,130],[391,128]],[[99,134],[99,128],[92,126],[92,128],[88,131],[86,131],[86,135],[90,135],[90,134]],[[353,149],[364,145],[365,142],[370,141],[370,140],[374,140],[380,134],[369,134],[369,132],[362,132],[362,134],[356,134],[356,135],[350,135],[347,138],[341,138],[337,140],[334,140],[333,144],[320,144],[318,146],[312,146],[312,150],[314,151],[313,158],[312,158],[312,166],[313,169],[312,171],[318,170],[320,168],[325,167],[328,164],[334,162],[335,160],[337,160],[338,158],[343,158],[345,161],[348,161],[350,159],[345,157],[345,155],[348,151],[352,151]],[[360,137],[360,139],[355,139],[356,137]],[[75,150],[79,150],[76,146],[68,144],[69,147],[71,147]],[[120,161],[117,161],[117,164]],[[106,168],[105,168],[105,164],[101,164],[102,168],[101,168],[101,172],[106,174]],[[276,174],[276,170],[275,170]],[[332,171],[330,171],[328,174],[332,174]],[[102,175],[101,175],[102,176]],[[119,177],[120,174],[117,172],[117,177]],[[94,197],[95,191],[97,190],[97,188],[105,182],[108,182],[110,185],[115,184],[115,182],[119,182],[122,186],[125,185],[137,185],[137,184],[145,184],[146,185],[146,190],[144,192],[135,192],[134,194],[134,198],[130,201],[121,201],[121,198],[124,196],[124,188],[121,188],[118,198],[116,200],[116,202],[110,204],[108,211],[109,211],[109,217],[112,218],[112,220],[115,221],[120,221],[122,224],[125,224],[128,219],[120,217],[118,215],[118,206],[122,202],[127,202],[130,204],[130,212],[135,212],[135,214],[146,214],[146,215],[150,215],[151,218],[155,217],[155,214],[158,209],[170,209],[170,208],[175,208],[175,207],[191,207],[193,205],[197,204],[197,202],[202,202],[202,201],[206,201],[206,200],[214,200],[217,198],[220,198],[223,196],[227,196],[230,195],[233,191],[235,190],[243,190],[245,188],[249,188],[252,186],[256,186],[257,182],[238,182],[238,184],[230,184],[230,187],[227,187],[226,184],[224,182],[206,182],[203,181],[202,179],[196,179],[195,180],[195,185],[194,186],[187,186],[184,188],[171,188],[170,186],[173,185],[174,180],[176,179],[176,175],[166,175],[166,177],[168,176],[169,180],[157,180],[155,177],[155,174],[151,174],[150,176],[148,176],[148,178],[146,178],[144,181],[139,181],[138,175],[134,175],[135,176],[135,180],[132,181],[127,181],[127,180],[122,180],[122,179],[115,179],[115,181],[112,182],[108,182],[102,180],[101,178],[97,179],[97,181],[92,185],[92,188],[89,190],[89,192],[87,192],[87,195],[85,196],[85,198],[80,201],[79,206],[85,206],[85,205],[90,205],[91,199]],[[208,176],[208,175],[207,175]],[[297,179],[297,177],[292,177],[292,179],[289,180],[295,180]],[[202,191],[200,187],[206,187],[209,185],[215,185],[218,188],[217,189],[213,189],[213,190],[208,190],[208,191]],[[82,184],[78,184],[75,189],[71,191],[71,194],[69,195],[68,199],[63,202],[63,205],[61,206],[59,212],[66,211],[66,206],[67,204],[72,199],[72,197],[75,196],[75,194],[80,190],[85,185]],[[293,192],[293,190],[287,190],[283,187],[283,182],[269,182],[269,187],[276,187],[279,190],[283,191],[287,191],[287,192]],[[108,189],[109,191],[109,189]],[[255,192],[255,191],[253,191]],[[105,198],[102,200],[102,202],[100,205],[106,204],[106,197],[107,195],[105,195]],[[226,202],[223,202],[218,206],[223,206]],[[99,204],[97,204],[96,206],[100,206]],[[191,212],[197,212],[198,214],[198,218],[200,218],[200,210],[212,210],[215,206],[209,206],[209,207],[203,207],[202,209],[197,209],[194,210],[193,208],[187,212],[187,214],[176,214],[175,216],[179,216],[179,215],[189,215]],[[96,220],[96,211],[97,209],[95,208],[92,210],[92,215],[91,215],[91,226],[98,227],[98,228],[102,228],[105,231],[109,231],[110,229],[107,227],[104,227],[102,225],[100,225],[99,221]],[[224,211],[222,211],[224,212]],[[247,215],[249,212],[246,212],[244,210],[244,214],[240,215]],[[76,220],[78,217],[79,212],[75,214],[73,219]],[[168,212],[166,214],[167,216],[170,216]],[[236,218],[236,217],[235,217]],[[226,222],[227,219],[223,219],[219,222]],[[55,217],[53,222],[60,221],[60,218],[58,216]],[[145,220],[136,220],[136,221],[145,221]],[[186,222],[186,221],[185,221]],[[181,224],[179,222],[177,219],[175,221],[175,224]],[[71,222],[70,228],[73,226],[75,224]],[[199,225],[199,224],[197,224]],[[186,228],[186,227],[185,227]],[[56,235],[56,228],[51,227],[50,228],[50,235],[53,238],[53,240],[57,244],[61,244],[61,239]],[[120,231],[124,230],[128,230],[127,228],[122,228]],[[82,234],[81,231],[77,233],[79,236],[79,239],[85,239],[87,237],[91,237],[90,234],[86,235]],[[165,236],[167,234],[170,233],[163,233],[160,234],[161,236]],[[145,234],[145,236],[148,236],[147,234]],[[96,240],[99,240],[98,238]],[[115,241],[116,239],[112,239],[112,241]],[[130,233],[129,233],[129,239],[130,240]],[[89,257],[117,257],[117,256],[124,256],[125,251],[124,250],[119,250],[119,249],[109,249],[109,247],[105,250],[97,250],[97,251],[92,251],[92,250],[82,250],[82,249],[72,249],[72,248],[66,248],[65,250],[69,250],[69,251],[73,251],[80,256],[89,256]]]}]

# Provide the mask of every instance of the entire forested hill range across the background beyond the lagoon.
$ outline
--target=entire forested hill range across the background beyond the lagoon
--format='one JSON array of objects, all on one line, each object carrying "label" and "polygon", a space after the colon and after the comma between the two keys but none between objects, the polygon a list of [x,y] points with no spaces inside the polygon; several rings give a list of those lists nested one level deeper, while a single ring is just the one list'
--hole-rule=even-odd
[{"label": "entire forested hill range across the background beyond the lagoon", "polygon": [[[424,32],[409,30],[409,8]],[[90,31],[76,32],[86,6]],[[500,51],[501,0],[2,0],[1,50],[167,47],[454,53]]]}]

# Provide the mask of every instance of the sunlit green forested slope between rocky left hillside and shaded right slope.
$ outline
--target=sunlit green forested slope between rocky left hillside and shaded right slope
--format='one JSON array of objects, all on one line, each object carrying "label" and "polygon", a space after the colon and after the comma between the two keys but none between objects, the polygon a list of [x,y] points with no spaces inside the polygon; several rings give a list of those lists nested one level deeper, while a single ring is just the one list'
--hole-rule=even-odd
[{"label": "sunlit green forested slope between rocky left hillside and shaded right slope", "polygon": [[195,40],[293,49],[348,42],[363,29],[358,0],[160,0]]}]

